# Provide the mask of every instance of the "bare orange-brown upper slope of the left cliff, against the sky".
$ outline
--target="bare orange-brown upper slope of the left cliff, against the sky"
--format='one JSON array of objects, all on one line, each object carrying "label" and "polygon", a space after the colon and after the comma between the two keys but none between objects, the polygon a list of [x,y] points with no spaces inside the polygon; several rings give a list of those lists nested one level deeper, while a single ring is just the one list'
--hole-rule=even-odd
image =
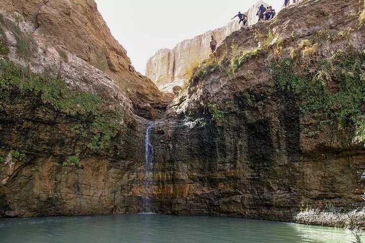
[{"label": "bare orange-brown upper slope of the left cliff, against the sky", "polygon": [[[108,74],[133,101],[137,113],[162,116],[171,96],[134,70],[126,50],[112,36],[94,1],[2,0],[2,11],[45,46],[74,54]],[[64,58],[64,57],[63,57]],[[66,60],[66,59],[65,59]]]}]

